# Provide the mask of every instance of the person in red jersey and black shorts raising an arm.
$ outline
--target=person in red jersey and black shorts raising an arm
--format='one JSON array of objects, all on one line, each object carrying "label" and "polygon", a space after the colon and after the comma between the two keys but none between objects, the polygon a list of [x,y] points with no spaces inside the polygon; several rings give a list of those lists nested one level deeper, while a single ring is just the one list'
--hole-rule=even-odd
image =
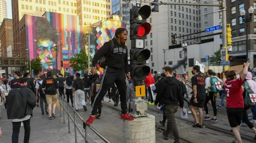
[{"label": "person in red jersey and black shorts raising an arm", "polygon": [[238,74],[239,77],[236,75],[236,71],[229,71],[227,73],[228,80],[224,84],[227,94],[227,118],[235,135],[232,143],[242,143],[239,125],[245,106],[241,86],[244,84],[250,65],[250,61],[244,63],[245,68]]}]

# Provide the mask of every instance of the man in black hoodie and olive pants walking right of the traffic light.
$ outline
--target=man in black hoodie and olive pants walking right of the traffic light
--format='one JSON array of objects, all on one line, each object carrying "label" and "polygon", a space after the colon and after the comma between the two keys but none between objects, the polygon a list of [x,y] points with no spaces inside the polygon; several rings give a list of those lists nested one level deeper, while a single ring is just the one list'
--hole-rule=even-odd
[{"label": "man in black hoodie and olive pants walking right of the traffic light", "polygon": [[175,123],[174,114],[178,111],[178,103],[180,109],[184,109],[182,85],[176,77],[171,75],[171,67],[163,67],[162,71],[166,78],[161,82],[161,86],[159,86],[159,96],[157,96],[157,100],[162,99],[163,104],[165,104],[164,108],[167,119],[167,129],[166,132],[163,133],[163,136],[165,140],[168,140],[168,135],[172,132],[175,140],[174,143],[179,143],[179,132]]}]

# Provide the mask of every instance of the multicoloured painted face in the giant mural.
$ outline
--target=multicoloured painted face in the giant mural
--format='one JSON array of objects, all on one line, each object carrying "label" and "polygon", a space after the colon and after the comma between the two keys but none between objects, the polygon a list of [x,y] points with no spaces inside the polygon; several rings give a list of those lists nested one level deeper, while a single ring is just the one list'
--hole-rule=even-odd
[{"label": "multicoloured painted face in the giant mural", "polygon": [[52,70],[56,62],[56,44],[50,39],[39,39],[37,53],[44,69]]}]

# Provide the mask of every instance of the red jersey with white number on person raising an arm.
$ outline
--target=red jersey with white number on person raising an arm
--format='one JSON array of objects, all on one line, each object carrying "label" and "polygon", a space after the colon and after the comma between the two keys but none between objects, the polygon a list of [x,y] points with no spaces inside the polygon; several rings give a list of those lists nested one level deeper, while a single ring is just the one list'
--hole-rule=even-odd
[{"label": "red jersey with white number on person raising an arm", "polygon": [[227,108],[244,108],[244,98],[242,92],[241,77],[235,81],[227,80],[224,84],[225,91],[227,93]]}]

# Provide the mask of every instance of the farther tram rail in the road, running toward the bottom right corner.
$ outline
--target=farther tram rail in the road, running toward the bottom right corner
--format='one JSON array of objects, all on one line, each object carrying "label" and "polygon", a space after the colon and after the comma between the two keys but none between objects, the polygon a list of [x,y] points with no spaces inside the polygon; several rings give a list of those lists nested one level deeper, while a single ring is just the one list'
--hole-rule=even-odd
[{"label": "farther tram rail in the road, running toward the bottom right corner", "polygon": [[[155,112],[158,112],[158,113],[163,113],[162,111],[157,110],[157,109],[155,110],[155,109],[152,109],[152,108],[148,108],[148,110],[155,111]],[[195,121],[184,119],[184,118],[181,118],[179,116],[175,116],[175,118],[183,120],[183,121],[187,121],[187,122],[190,122],[190,123],[193,123],[193,124],[195,123]],[[224,134],[227,134],[227,135],[234,136],[234,134],[230,130],[221,129],[221,128],[214,127],[214,126],[211,126],[211,125],[205,125],[205,124],[203,124],[203,125],[204,125],[205,128],[208,128],[208,129],[211,129],[211,130],[214,130],[214,131],[217,131],[217,132],[221,132],[221,133],[224,133]],[[240,133],[240,134],[241,134],[241,138],[243,140],[251,141],[251,142],[256,141],[253,137],[250,137],[250,136],[242,134],[242,133]]]}]

